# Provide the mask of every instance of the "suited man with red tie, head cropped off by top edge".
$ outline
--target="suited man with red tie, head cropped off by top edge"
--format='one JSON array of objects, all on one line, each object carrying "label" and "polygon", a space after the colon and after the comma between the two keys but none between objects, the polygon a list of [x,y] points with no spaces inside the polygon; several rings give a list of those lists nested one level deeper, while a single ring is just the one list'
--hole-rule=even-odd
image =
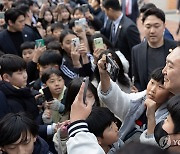
[{"label": "suited man with red tie, head cropped off by top edge", "polygon": [[122,11],[123,13],[130,18],[134,23],[139,16],[139,8],[137,0],[122,0]]}]

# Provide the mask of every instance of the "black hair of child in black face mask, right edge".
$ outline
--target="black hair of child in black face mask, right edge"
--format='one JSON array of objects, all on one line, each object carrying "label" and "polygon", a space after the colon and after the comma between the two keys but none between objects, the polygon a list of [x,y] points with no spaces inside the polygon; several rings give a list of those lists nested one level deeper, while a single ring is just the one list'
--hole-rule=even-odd
[{"label": "black hair of child in black face mask, right edge", "polygon": [[167,109],[174,123],[174,133],[180,133],[180,95],[176,95],[168,101]]}]

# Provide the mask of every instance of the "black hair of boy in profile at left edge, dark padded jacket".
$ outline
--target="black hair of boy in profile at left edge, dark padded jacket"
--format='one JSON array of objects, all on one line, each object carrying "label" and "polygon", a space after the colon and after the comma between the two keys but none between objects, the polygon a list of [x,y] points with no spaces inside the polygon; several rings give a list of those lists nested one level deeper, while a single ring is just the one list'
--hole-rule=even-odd
[{"label": "black hair of boy in profile at left edge, dark padded jacket", "polygon": [[12,75],[14,72],[26,69],[26,62],[23,58],[13,55],[4,54],[0,57],[0,74],[4,73]]}]

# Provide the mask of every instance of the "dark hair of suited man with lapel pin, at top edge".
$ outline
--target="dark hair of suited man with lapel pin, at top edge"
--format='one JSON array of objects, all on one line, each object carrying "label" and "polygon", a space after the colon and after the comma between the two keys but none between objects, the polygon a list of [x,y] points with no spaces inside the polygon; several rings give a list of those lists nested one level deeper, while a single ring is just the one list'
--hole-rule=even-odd
[{"label": "dark hair of suited man with lapel pin, at top edge", "polygon": [[122,7],[119,3],[119,0],[104,0],[102,5],[105,9],[111,8],[115,11],[121,11],[122,10]]}]

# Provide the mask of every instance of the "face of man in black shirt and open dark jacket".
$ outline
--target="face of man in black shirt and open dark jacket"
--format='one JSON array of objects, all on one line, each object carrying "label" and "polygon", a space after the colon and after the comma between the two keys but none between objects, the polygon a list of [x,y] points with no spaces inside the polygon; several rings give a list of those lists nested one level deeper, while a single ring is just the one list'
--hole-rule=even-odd
[{"label": "face of man in black shirt and open dark jacket", "polygon": [[165,24],[154,15],[148,16],[144,21],[145,36],[150,45],[159,45],[163,41]]}]

